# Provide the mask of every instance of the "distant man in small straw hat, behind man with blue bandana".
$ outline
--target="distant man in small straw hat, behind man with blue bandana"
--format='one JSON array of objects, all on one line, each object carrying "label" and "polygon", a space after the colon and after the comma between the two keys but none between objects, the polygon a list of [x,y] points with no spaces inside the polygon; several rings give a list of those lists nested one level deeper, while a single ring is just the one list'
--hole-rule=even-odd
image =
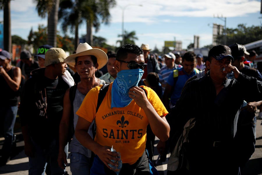
[{"label": "distant man in small straw hat, behind man with blue bandana", "polygon": [[146,78],[147,74],[150,72],[155,72],[158,74],[158,72],[160,71],[160,67],[159,64],[157,62],[157,59],[152,55],[149,55],[150,50],[149,49],[149,45],[148,44],[142,44],[141,48],[144,52],[144,59],[145,59],[145,63],[147,64],[145,70],[144,70],[144,74],[142,76],[143,78]]}]

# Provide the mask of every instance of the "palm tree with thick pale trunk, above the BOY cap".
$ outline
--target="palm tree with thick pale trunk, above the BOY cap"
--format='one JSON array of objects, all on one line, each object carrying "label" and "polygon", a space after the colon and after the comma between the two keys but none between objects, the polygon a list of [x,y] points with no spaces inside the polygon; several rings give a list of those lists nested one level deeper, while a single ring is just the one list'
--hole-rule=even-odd
[{"label": "palm tree with thick pale trunk, above the BOY cap", "polygon": [[33,0],[36,3],[38,15],[47,20],[47,44],[56,47],[56,31],[58,22],[59,0]]}]

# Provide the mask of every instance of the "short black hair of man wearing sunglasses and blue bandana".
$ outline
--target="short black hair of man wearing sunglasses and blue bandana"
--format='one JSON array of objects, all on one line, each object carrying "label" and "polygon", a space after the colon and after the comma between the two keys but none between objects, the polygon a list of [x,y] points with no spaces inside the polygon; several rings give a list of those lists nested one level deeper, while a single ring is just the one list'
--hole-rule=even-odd
[{"label": "short black hair of man wearing sunglasses and blue bandana", "polygon": [[129,53],[143,55],[143,50],[135,44],[125,44],[116,53],[116,60],[125,60]]}]

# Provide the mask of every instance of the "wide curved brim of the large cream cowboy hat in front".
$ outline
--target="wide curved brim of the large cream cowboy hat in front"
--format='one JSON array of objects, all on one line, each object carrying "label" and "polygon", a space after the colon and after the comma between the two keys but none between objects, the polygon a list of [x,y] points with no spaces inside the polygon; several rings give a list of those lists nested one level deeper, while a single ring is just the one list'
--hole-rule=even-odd
[{"label": "wide curved brim of the large cream cowboy hat in front", "polygon": [[90,49],[90,50],[86,50],[86,51],[75,53],[75,54],[68,56],[65,59],[65,63],[72,63],[72,62],[75,63],[76,57],[80,57],[80,56],[84,56],[84,55],[94,55],[97,59],[97,62],[98,62],[98,69],[101,69],[102,67],[104,67],[107,64],[107,61],[108,61],[107,54],[103,50],[93,48],[93,49]]}]

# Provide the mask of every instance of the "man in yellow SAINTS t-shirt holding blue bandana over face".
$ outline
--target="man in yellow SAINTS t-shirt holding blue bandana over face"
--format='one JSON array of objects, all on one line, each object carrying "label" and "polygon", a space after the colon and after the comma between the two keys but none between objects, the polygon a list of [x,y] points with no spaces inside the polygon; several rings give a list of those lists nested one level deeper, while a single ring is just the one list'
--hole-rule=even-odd
[{"label": "man in yellow SAINTS t-shirt holding blue bandana over face", "polygon": [[[102,85],[90,90],[77,111],[79,119],[75,129],[77,140],[95,153],[91,174],[115,174],[108,164],[122,160],[120,174],[143,172],[149,174],[146,155],[146,127],[161,140],[169,138],[170,127],[165,118],[168,113],[157,94],[146,86],[137,87],[146,64],[139,46],[123,45],[116,54],[114,67],[118,74],[96,113],[98,93]],[[95,119],[96,136],[87,133]],[[110,152],[113,146],[116,152]],[[121,155],[121,158],[117,158]]]}]

